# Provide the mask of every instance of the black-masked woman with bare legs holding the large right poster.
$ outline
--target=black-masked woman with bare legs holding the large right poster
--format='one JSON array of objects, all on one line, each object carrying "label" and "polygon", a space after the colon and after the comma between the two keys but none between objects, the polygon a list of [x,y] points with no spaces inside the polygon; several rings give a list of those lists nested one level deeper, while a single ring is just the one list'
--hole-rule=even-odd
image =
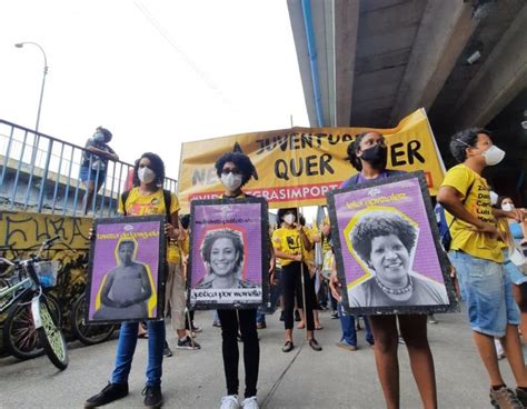
[{"label": "black-masked woman with bare legs holding the large right poster", "polygon": [[[389,178],[404,172],[386,169],[388,148],[382,134],[367,131],[348,146],[348,160],[358,173],[342,182],[341,188],[359,187],[360,183]],[[388,236],[381,236],[388,238]],[[334,296],[340,298],[337,271],[331,275]],[[405,340],[414,378],[425,408],[437,408],[434,358],[427,338],[426,315],[370,316],[375,339],[375,360],[382,392],[388,408],[399,407],[399,362],[397,357],[398,329]]]}]

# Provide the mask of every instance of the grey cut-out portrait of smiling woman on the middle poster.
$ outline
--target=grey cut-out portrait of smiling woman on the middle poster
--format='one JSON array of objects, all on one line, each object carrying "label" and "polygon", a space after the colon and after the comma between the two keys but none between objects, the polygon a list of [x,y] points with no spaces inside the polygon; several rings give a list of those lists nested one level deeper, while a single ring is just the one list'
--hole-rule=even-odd
[{"label": "grey cut-out portrait of smiling woman on the middle poster", "polygon": [[205,236],[200,251],[207,276],[196,289],[257,287],[241,279],[243,242],[239,232],[231,229],[211,230]]}]

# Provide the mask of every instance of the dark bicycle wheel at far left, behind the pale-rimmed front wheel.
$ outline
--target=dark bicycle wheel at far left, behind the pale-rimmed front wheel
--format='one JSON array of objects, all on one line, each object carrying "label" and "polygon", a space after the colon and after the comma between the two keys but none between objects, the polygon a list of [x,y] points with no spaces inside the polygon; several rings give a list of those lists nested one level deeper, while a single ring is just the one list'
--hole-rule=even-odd
[{"label": "dark bicycle wheel at far left, behind the pale-rimmed front wheel", "polygon": [[[58,302],[46,297],[50,310],[54,317],[60,317]],[[22,297],[22,301],[11,307],[8,318],[3,322],[3,349],[18,359],[31,359],[43,353],[37,329],[34,328],[33,315],[31,313],[31,300]]]}]

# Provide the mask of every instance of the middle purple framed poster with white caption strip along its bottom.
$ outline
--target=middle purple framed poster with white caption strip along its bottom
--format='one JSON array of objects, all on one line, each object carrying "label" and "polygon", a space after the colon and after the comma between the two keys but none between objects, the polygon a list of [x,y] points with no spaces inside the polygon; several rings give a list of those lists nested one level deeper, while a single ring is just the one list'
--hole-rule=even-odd
[{"label": "middle purple framed poster with white caption strip along its bottom", "polygon": [[196,309],[268,302],[269,221],[262,198],[195,200],[188,303]]}]

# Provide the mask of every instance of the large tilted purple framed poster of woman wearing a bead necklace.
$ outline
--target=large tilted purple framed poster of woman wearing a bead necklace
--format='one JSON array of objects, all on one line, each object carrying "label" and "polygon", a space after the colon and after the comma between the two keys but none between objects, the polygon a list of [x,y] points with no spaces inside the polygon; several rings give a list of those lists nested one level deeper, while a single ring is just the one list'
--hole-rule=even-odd
[{"label": "large tilted purple framed poster of woman wearing a bead necklace", "polygon": [[349,313],[457,310],[422,172],[334,190],[327,198]]}]

